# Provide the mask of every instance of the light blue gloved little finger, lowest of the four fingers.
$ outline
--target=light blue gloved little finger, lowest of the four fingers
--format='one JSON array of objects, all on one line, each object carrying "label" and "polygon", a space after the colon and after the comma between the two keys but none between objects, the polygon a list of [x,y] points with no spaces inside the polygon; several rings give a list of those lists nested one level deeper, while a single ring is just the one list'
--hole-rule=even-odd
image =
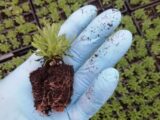
[{"label": "light blue gloved little finger, lowest of the four fingers", "polygon": [[119,73],[116,69],[108,68],[102,71],[71,107],[69,110],[70,117],[73,120],[87,120],[92,117],[111,97],[117,87],[118,79]]}]

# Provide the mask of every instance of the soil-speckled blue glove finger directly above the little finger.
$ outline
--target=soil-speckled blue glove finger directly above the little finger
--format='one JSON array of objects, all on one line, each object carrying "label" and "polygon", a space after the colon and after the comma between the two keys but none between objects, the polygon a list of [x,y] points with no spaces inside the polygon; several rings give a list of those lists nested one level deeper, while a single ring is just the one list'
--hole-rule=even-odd
[{"label": "soil-speckled blue glove finger directly above the little finger", "polygon": [[102,70],[113,67],[124,56],[131,43],[132,34],[127,30],[120,30],[106,39],[90,59],[75,73],[72,103],[83,94]]}]

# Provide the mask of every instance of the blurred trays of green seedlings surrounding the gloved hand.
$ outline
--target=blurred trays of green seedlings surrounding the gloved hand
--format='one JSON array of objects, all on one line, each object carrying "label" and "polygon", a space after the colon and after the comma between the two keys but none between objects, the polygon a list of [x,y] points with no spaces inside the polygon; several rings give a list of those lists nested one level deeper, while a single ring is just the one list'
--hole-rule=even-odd
[{"label": "blurred trays of green seedlings surrounding the gloved hand", "polygon": [[131,49],[116,65],[118,88],[92,120],[160,120],[160,0],[1,0],[0,79],[32,54],[30,43],[43,19],[63,22],[87,4],[99,13],[119,9],[118,29],[134,35]]}]

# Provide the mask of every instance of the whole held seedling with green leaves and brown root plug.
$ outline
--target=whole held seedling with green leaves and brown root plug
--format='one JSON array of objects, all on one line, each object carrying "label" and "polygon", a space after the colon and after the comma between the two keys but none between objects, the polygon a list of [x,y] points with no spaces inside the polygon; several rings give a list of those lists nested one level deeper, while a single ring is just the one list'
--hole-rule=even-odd
[{"label": "whole held seedling with green leaves and brown root plug", "polygon": [[44,28],[38,30],[32,45],[44,61],[42,67],[30,74],[30,81],[36,109],[48,115],[51,110],[63,111],[70,102],[73,67],[62,60],[70,42],[64,35],[58,36],[59,25],[45,23]]}]

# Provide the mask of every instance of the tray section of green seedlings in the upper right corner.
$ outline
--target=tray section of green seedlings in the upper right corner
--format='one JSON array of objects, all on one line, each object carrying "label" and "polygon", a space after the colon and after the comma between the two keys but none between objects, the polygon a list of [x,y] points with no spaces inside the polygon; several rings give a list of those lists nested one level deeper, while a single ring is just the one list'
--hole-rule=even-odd
[{"label": "tray section of green seedlings in the upper right corner", "polygon": [[160,2],[134,11],[132,17],[160,71]]}]

